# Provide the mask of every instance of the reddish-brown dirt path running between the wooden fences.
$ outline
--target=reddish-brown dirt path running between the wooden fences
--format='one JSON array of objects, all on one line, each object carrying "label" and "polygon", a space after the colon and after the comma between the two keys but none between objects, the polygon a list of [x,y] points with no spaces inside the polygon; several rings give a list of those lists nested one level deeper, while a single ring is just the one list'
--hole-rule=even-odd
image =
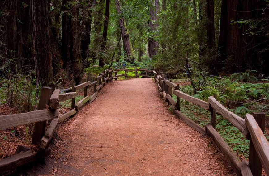
[{"label": "reddish-brown dirt path running between the wooden fences", "polygon": [[151,78],[113,81],[57,129],[28,175],[228,175],[211,140],[168,111]]}]

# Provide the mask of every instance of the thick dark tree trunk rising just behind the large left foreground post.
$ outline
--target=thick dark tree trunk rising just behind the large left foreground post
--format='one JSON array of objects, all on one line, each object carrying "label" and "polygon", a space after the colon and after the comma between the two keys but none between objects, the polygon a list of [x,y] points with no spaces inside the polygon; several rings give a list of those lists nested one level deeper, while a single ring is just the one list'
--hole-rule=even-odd
[{"label": "thick dark tree trunk rising just behind the large left foreground post", "polygon": [[46,86],[53,79],[48,1],[34,0],[32,7],[36,85],[41,82],[41,86]]}]

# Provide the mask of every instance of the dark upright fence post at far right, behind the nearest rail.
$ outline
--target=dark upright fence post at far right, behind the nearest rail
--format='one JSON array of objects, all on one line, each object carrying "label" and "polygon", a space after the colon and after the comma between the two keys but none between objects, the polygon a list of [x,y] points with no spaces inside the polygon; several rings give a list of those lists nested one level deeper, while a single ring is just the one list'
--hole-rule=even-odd
[{"label": "dark upright fence post at far right, behind the nearest rail", "polygon": [[[265,113],[264,112],[253,112],[252,115],[264,134]],[[257,151],[255,150],[255,147],[253,145],[251,138],[250,138],[249,166],[250,166],[250,170],[251,170],[253,176],[261,176],[262,175],[262,163],[258,157]]]}]

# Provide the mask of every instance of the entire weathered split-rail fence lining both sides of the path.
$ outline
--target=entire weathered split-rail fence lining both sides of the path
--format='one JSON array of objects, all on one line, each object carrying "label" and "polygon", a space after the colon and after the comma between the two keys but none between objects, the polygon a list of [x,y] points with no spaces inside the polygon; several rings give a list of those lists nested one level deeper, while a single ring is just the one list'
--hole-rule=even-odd
[{"label": "entire weathered split-rail fence lining both sides of the path", "polygon": [[[117,75],[117,71],[125,71],[125,74]],[[137,74],[138,71],[145,71],[145,74]],[[135,76],[128,76],[127,72],[135,72]],[[160,95],[168,102],[168,105],[171,105],[174,108],[174,114],[199,133],[210,136],[220,151],[224,154],[224,157],[227,159],[228,163],[232,166],[237,175],[261,175],[262,166],[266,173],[269,174],[269,144],[264,136],[264,113],[253,113],[253,115],[247,114],[246,119],[242,119],[222,106],[216,100],[216,96],[209,97],[208,102],[205,102],[179,91],[178,88],[180,86],[166,80],[163,77],[163,73],[160,70],[158,72],[157,68],[154,71],[147,69],[106,69],[103,73],[100,73],[99,76],[95,77],[93,82],[84,80],[82,84],[77,86],[73,84],[71,92],[68,88],[66,89],[68,93],[63,94],[60,94],[60,90],[55,89],[54,85],[51,85],[50,87],[42,87],[37,111],[0,116],[0,130],[35,123],[32,145],[36,145],[35,150],[28,149],[24,146],[18,146],[15,155],[0,161],[0,174],[33,162],[49,153],[48,145],[53,138],[57,125],[75,115],[79,111],[79,108],[85,103],[91,103],[94,101],[98,95],[98,91],[101,90],[106,83],[113,79],[117,80],[120,76],[124,76],[125,78],[139,78],[139,76],[147,78],[149,77],[148,73],[155,74],[154,79],[157,82]],[[87,94],[87,89],[89,87],[93,87],[92,95]],[[84,98],[75,104],[75,97],[79,95],[79,91],[82,89],[84,90]],[[177,96],[177,101],[173,100],[173,94]],[[205,128],[203,128],[181,113],[180,98],[210,111],[211,123],[207,124]],[[60,116],[57,110],[59,102],[63,102],[68,99],[71,99],[72,110]],[[216,131],[216,113],[222,115],[225,119],[231,122],[247,139],[250,140],[249,162],[246,160],[241,162],[237,155]],[[47,122],[49,122],[49,126],[45,131]]]}]

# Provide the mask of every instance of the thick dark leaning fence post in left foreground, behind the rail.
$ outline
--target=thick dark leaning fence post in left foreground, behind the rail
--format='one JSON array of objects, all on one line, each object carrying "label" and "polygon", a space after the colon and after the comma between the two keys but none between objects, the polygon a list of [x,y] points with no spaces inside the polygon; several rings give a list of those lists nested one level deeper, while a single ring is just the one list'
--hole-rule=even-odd
[{"label": "thick dark leaning fence post in left foreground, behind the rail", "polygon": [[[45,109],[45,106],[49,104],[49,98],[52,94],[52,90],[53,88],[51,87],[41,87],[40,98],[39,98],[38,107],[37,107],[38,110]],[[46,123],[47,123],[46,120],[35,123],[35,128],[34,128],[33,137],[32,137],[32,145],[40,144],[40,140],[45,133]]]}]

